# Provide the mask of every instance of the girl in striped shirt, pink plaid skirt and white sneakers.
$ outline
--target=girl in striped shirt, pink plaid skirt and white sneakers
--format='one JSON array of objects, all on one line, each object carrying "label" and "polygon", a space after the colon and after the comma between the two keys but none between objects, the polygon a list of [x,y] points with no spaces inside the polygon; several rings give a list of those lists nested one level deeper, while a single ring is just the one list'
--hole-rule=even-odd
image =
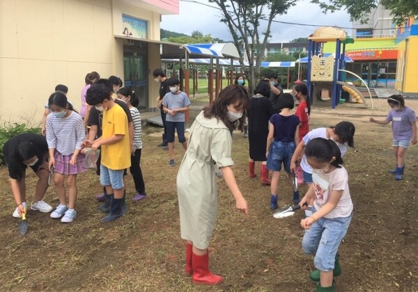
[{"label": "girl in striped shirt, pink plaid skirt and white sneakers", "polygon": [[[86,136],[83,118],[72,108],[67,97],[54,92],[48,99],[51,110],[47,117],[47,143],[49,169],[54,170],[54,186],[59,206],[51,213],[52,218],[70,223],[77,217],[77,175],[86,171],[83,166],[82,143]],[[68,204],[65,198],[64,177],[67,177]]]}]

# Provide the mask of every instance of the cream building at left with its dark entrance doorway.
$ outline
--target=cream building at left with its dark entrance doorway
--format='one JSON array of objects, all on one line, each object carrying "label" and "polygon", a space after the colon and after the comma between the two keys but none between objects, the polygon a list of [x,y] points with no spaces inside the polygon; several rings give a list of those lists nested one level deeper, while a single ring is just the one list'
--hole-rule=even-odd
[{"label": "cream building at left with its dark entrance doorway", "polygon": [[134,86],[139,109],[155,108],[160,19],[179,0],[0,1],[0,120],[40,122],[56,84],[81,106],[88,72]]}]

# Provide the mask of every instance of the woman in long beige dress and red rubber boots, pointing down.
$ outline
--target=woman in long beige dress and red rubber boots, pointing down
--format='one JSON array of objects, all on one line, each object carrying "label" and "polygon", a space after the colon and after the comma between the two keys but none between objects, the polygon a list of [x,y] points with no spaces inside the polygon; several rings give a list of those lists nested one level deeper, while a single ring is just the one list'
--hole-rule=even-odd
[{"label": "woman in long beige dress and red rubber boots, pointing down", "polygon": [[222,277],[210,273],[208,246],[217,218],[217,186],[213,163],[235,198],[236,208],[247,216],[247,201],[242,197],[231,166],[231,131],[242,131],[249,106],[247,90],[232,84],[219,93],[215,102],[204,109],[189,130],[189,144],[177,175],[181,238],[186,244],[187,275],[196,284],[217,284]]}]

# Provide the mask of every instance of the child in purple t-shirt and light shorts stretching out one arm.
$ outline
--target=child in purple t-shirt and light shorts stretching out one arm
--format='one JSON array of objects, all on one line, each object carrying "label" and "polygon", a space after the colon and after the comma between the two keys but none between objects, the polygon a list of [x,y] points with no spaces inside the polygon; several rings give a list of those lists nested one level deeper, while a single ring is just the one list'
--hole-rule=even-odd
[{"label": "child in purple t-shirt and light shorts stretching out one arm", "polygon": [[389,170],[389,172],[396,175],[395,179],[400,181],[405,169],[405,152],[411,144],[417,144],[417,117],[411,108],[405,106],[402,95],[390,96],[387,99],[387,104],[391,109],[385,120],[375,120],[371,117],[369,121],[376,122],[376,124],[392,122],[392,146],[394,147],[396,168]]}]

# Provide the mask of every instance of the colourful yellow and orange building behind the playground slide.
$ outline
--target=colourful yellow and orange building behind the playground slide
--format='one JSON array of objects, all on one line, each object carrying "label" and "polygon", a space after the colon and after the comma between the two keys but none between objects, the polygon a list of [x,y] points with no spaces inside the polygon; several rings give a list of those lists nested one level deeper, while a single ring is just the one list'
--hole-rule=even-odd
[{"label": "colourful yellow and orange building behind the playground slide", "polygon": [[[418,19],[410,17],[401,27],[392,23],[389,10],[378,6],[369,23],[353,23],[354,42],[346,44],[346,70],[361,76],[369,88],[394,88],[405,97],[418,97]],[[323,51],[335,52],[335,42],[324,44]],[[364,86],[346,74],[346,81]]]}]

